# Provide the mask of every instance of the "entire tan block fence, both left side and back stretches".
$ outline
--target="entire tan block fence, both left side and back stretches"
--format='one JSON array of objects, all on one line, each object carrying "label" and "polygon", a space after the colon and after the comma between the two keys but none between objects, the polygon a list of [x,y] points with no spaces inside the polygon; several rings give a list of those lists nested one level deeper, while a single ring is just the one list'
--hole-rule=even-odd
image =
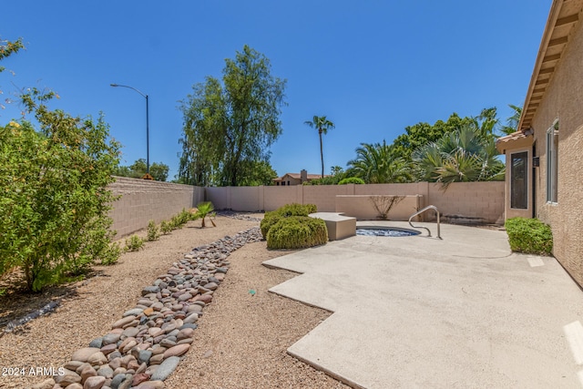
[{"label": "entire tan block fence, both left side and back stretches", "polygon": [[[200,188],[147,179],[117,177],[110,188],[121,195],[111,210],[118,238],[148,227],[149,220],[169,220],[182,209],[200,201],[211,201],[216,210],[276,210],[297,202],[316,204],[321,212],[344,212],[360,220],[374,219],[371,196],[406,196],[389,213],[391,220],[408,216],[427,205],[435,205],[442,220],[449,222],[504,222],[504,182],[456,182],[447,190],[429,182],[369,185],[297,185],[285,187]],[[428,211],[421,220],[435,220]]]}]

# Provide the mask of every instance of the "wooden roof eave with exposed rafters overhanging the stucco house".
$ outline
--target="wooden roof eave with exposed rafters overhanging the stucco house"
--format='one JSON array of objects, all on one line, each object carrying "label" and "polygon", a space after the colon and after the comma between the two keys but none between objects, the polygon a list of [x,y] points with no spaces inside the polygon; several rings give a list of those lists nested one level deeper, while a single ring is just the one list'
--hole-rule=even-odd
[{"label": "wooden roof eave with exposed rafters overhanging the stucco house", "polygon": [[520,131],[525,131],[532,126],[537,107],[545,96],[547,86],[565,52],[565,47],[568,46],[569,37],[577,25],[581,9],[583,9],[583,0],[553,0],[547,26],[545,26],[538,49],[535,68],[530,78],[522,116],[518,123]]}]

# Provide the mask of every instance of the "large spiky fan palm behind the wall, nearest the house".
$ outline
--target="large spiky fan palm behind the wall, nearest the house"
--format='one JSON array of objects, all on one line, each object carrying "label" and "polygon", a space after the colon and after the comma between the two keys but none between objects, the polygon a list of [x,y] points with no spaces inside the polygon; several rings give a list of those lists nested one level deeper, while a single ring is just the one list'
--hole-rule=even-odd
[{"label": "large spiky fan palm behind the wall, nearest the house", "polygon": [[413,159],[422,179],[447,188],[452,182],[503,180],[504,164],[497,155],[494,138],[465,126],[416,149]]}]

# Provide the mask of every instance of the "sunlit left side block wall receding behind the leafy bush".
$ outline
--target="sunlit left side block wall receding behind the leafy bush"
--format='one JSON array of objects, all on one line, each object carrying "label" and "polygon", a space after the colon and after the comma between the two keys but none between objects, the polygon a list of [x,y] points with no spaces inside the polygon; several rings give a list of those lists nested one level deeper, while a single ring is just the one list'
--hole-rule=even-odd
[{"label": "sunlit left side block wall receding behind the leafy bush", "polygon": [[169,220],[204,200],[203,188],[148,179],[116,177],[109,189],[121,196],[109,212],[117,238],[148,227],[149,220]]}]

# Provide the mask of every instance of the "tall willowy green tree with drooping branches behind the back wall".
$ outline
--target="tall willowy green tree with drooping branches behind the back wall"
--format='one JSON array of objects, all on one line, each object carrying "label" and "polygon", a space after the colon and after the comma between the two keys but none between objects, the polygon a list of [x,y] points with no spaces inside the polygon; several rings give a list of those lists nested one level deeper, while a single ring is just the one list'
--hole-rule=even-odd
[{"label": "tall willowy green tree with drooping branches behind the back wall", "polygon": [[215,77],[193,87],[181,101],[184,117],[179,181],[238,186],[267,162],[281,135],[286,81],[271,75],[270,60],[249,46],[226,59],[222,84]]}]

